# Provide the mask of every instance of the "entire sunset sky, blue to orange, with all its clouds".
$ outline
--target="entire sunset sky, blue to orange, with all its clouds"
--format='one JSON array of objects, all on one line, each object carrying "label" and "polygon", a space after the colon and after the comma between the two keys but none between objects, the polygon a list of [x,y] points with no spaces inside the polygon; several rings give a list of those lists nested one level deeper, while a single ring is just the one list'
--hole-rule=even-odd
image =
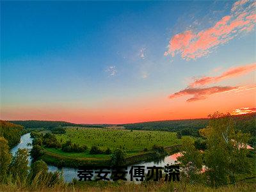
[{"label": "entire sunset sky, blue to orange, with all its clouds", "polygon": [[255,112],[255,6],[1,1],[0,118],[125,124]]}]

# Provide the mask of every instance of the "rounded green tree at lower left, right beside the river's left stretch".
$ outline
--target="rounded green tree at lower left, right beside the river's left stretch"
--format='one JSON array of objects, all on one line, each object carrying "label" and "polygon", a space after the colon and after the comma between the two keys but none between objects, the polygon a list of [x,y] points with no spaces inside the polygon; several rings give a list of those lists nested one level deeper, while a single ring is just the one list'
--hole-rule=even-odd
[{"label": "rounded green tree at lower left, right beside the river's left stretch", "polygon": [[10,172],[12,173],[13,177],[25,179],[28,176],[28,157],[28,149],[18,149],[18,151],[12,159],[12,163],[10,164]]}]

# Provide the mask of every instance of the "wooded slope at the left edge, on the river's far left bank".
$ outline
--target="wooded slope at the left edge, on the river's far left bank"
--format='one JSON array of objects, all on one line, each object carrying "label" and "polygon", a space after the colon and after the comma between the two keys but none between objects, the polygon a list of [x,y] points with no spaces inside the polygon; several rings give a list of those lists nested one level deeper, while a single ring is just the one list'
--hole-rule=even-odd
[{"label": "wooded slope at the left edge, on the river's far left bank", "polygon": [[20,142],[23,127],[15,125],[4,120],[0,120],[0,136],[8,140],[10,148],[14,147]]}]

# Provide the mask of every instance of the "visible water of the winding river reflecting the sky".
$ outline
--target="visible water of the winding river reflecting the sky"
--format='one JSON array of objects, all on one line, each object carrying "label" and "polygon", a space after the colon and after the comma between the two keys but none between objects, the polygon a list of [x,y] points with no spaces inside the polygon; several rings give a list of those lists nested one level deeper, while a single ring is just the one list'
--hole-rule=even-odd
[{"label": "visible water of the winding river reflecting the sky", "polygon": [[[28,148],[28,150],[31,150],[32,146],[28,146],[28,143],[32,143],[32,140],[33,140],[33,138],[30,137],[30,133],[27,133],[27,134],[24,134],[23,136],[21,136],[20,143],[17,146],[13,147],[12,150],[11,150],[13,156],[15,155],[15,153],[17,152],[17,150],[19,148]],[[155,166],[165,166],[166,164],[174,164],[175,161],[177,161],[177,157],[179,157],[179,156],[180,156],[180,154],[177,153],[177,154],[173,154],[171,156],[166,156],[161,161],[141,162],[141,163],[133,164],[131,166],[134,166],[134,165],[142,165],[142,166],[145,166],[145,167],[154,166],[154,165]],[[29,165],[31,165],[32,159],[31,159],[30,156],[29,156],[28,160],[29,160]],[[128,172],[129,172],[131,166],[127,167]],[[63,177],[64,177],[66,182],[71,182],[72,179],[74,179],[74,178],[78,179],[78,177],[77,177],[77,170],[78,169],[76,169],[76,168],[68,168],[68,167],[57,168],[56,166],[48,165],[48,169],[49,169],[49,172],[55,172],[55,171],[61,171],[62,170]],[[127,180],[130,180],[130,174],[127,174],[125,177],[126,177]]]}]

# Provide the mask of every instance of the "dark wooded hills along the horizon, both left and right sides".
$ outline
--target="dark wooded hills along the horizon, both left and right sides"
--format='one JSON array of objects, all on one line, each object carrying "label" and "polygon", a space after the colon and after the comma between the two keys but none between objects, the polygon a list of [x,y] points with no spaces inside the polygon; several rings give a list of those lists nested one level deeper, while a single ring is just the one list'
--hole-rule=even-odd
[{"label": "dark wooded hills along the horizon, both left and right sides", "polygon": [[[236,129],[242,130],[243,132],[250,132],[252,136],[255,136],[256,124],[255,124],[256,113],[250,113],[245,115],[234,115],[236,122]],[[13,124],[22,125],[26,129],[54,129],[58,126],[77,126],[77,127],[107,127],[108,124],[72,124],[69,122],[61,121],[42,121],[42,120],[15,120],[10,121]],[[151,131],[173,131],[181,132],[182,135],[198,136],[198,129],[206,127],[209,123],[209,118],[197,118],[197,119],[186,119],[186,120],[164,120],[156,122],[141,122],[136,124],[122,124],[125,129],[133,130],[151,130]]]}]

